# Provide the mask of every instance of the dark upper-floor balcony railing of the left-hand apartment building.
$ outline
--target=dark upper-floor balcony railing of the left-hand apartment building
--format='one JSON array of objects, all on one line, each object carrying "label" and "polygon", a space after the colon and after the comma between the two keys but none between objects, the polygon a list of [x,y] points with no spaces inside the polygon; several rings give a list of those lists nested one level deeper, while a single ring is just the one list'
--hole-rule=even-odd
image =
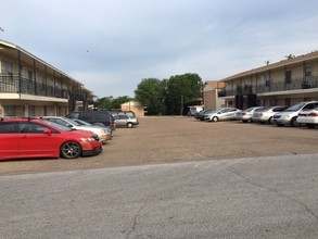
[{"label": "dark upper-floor balcony railing of the left-hand apartment building", "polygon": [[68,90],[59,87],[35,83],[14,75],[0,75],[0,92],[16,92],[31,96],[56,97],[68,99]]}]

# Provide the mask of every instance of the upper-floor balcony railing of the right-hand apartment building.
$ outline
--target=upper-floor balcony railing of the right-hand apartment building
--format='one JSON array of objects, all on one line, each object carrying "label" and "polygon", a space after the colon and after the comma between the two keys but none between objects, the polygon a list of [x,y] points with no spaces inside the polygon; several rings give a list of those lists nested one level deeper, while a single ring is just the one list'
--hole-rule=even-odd
[{"label": "upper-floor balcony railing of the right-hand apartment building", "polygon": [[277,92],[277,91],[288,91],[288,90],[300,90],[300,89],[310,89],[318,88],[318,76],[307,76],[303,78],[291,79],[290,83],[284,80],[272,83],[268,81],[264,85],[257,86],[243,86],[237,87],[237,89],[225,90],[222,96],[237,96],[237,95],[249,95],[249,93],[266,93],[266,92]]}]

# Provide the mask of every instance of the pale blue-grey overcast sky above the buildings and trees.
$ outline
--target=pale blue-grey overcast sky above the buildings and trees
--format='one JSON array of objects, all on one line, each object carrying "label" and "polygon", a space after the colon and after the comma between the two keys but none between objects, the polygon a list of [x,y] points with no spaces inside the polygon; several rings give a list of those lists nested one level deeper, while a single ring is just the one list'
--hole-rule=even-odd
[{"label": "pale blue-grey overcast sky above the buildings and trees", "polygon": [[98,97],[143,78],[218,80],[318,50],[317,0],[1,0],[0,39]]}]

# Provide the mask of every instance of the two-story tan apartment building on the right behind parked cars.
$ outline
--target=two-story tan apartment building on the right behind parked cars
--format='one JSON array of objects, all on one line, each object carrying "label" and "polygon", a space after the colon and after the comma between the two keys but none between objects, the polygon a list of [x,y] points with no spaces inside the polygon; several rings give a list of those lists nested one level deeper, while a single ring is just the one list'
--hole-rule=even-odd
[{"label": "two-story tan apartment building on the right behind parked cars", "polygon": [[318,51],[239,73],[225,83],[227,106],[293,105],[318,100]]}]

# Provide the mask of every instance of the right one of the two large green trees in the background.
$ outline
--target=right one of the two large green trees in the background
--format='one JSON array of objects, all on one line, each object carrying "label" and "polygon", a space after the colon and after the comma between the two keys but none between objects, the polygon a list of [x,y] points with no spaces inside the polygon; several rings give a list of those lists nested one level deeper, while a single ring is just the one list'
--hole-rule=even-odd
[{"label": "right one of the two large green trees in the background", "polygon": [[171,76],[167,80],[166,106],[173,114],[183,114],[185,106],[202,97],[202,79],[198,74]]}]

